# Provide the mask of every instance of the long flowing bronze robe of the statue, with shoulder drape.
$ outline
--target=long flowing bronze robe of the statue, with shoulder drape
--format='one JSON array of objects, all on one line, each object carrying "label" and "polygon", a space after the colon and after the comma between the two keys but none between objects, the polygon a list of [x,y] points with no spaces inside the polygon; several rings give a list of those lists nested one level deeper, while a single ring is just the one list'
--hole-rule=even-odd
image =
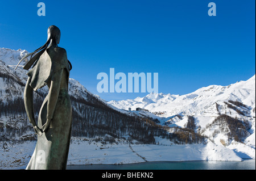
[{"label": "long flowing bronze robe of the statue, with shoulder drape", "polygon": [[[64,50],[64,49],[63,49]],[[69,65],[67,54],[60,53],[60,58],[51,60],[47,50],[35,62],[34,67],[28,71],[31,77],[30,86],[34,91],[46,86],[51,82],[51,77],[56,71],[66,69],[69,77]],[[63,75],[64,76],[64,75]],[[67,77],[67,85],[68,85]],[[67,86],[68,87],[68,86]],[[38,127],[46,123],[47,120],[47,102],[49,94],[44,99],[38,116]],[[53,113],[53,118],[46,132],[38,136],[36,147],[28,169],[65,169],[67,166],[69,144],[71,139],[72,107],[69,99],[68,90],[60,89],[59,97]]]}]

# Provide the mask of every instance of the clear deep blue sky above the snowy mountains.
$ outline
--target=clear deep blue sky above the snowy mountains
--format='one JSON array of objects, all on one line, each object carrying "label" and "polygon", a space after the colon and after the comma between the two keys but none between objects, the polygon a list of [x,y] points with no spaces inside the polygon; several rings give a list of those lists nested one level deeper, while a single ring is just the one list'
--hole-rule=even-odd
[{"label": "clear deep blue sky above the snowy mountains", "polygon": [[[37,15],[39,2],[46,16]],[[209,2],[217,16],[208,16]],[[148,94],[98,93],[97,74],[110,68],[157,72],[159,92],[180,95],[255,74],[253,0],[1,1],[0,47],[32,52],[52,24],[61,30],[71,78],[105,100]]]}]

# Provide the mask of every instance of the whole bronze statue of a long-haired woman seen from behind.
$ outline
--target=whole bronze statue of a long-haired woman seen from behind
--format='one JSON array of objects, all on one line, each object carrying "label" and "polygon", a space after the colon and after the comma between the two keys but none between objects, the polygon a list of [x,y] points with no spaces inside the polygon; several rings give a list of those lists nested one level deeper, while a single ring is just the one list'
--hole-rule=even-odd
[{"label": "whole bronze statue of a long-haired woman seen from behind", "polygon": [[[28,119],[38,134],[35,151],[26,169],[65,169],[67,166],[72,124],[68,80],[72,66],[67,59],[66,50],[57,47],[59,41],[59,28],[50,26],[46,44],[22,58],[32,57],[38,52],[24,66],[28,70],[33,65],[28,71],[24,104]],[[36,125],[33,91],[46,85],[49,92],[40,108]]]}]

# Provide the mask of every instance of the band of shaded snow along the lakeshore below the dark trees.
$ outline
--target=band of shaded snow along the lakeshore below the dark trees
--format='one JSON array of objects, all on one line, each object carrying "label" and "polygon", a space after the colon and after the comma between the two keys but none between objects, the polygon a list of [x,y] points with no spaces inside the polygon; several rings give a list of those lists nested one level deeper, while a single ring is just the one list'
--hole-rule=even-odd
[{"label": "band of shaded snow along the lakeshore below the dark trees", "polygon": [[[236,153],[208,141],[206,144],[175,145],[156,138],[159,144],[113,144],[92,138],[72,138],[67,165],[127,164],[151,161],[242,161]],[[26,169],[36,141],[0,141],[0,169]]]}]

